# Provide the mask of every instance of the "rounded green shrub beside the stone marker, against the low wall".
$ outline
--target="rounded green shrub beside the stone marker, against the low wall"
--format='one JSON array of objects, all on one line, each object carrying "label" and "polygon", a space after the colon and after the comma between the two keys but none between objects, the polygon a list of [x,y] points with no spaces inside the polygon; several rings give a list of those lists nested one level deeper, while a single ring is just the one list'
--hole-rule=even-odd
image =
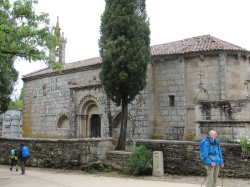
[{"label": "rounded green shrub beside the stone marker, against the low wall", "polygon": [[132,174],[152,174],[153,154],[143,145],[137,147],[133,153],[129,155],[128,167]]}]

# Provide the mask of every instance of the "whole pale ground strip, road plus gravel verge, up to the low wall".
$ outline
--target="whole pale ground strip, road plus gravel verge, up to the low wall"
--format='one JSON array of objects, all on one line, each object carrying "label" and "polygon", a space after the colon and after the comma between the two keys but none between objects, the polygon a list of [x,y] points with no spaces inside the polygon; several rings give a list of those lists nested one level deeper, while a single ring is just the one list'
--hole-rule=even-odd
[{"label": "whole pale ground strip, road plus gravel verge, up to the low wall", "polygon": [[[0,165],[0,187],[198,187],[204,179],[198,176],[129,177],[43,168],[27,168],[26,175],[21,175],[20,170],[11,172],[9,166]],[[225,178],[223,181],[224,187],[250,187],[248,179]],[[221,182],[219,179],[218,186]]]}]

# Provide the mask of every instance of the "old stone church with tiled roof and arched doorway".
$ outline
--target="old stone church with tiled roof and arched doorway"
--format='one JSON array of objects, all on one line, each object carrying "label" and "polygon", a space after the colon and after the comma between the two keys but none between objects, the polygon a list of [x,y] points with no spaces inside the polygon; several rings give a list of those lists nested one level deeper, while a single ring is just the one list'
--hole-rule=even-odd
[{"label": "old stone church with tiled roof and arched doorway", "polygon": [[[100,83],[102,59],[65,63],[62,46],[62,73],[48,67],[23,77],[23,137],[108,138],[112,133],[117,139],[121,107],[107,99]],[[197,101],[246,99],[246,49],[204,35],[155,45],[151,52],[147,86],[129,105],[128,143],[192,140]]]}]

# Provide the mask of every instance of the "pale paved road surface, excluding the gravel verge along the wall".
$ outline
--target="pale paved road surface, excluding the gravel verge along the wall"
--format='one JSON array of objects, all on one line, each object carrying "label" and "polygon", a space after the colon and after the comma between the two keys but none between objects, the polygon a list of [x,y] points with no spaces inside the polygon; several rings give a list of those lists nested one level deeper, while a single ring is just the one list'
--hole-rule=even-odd
[{"label": "pale paved road surface, excluding the gravel verge along the wall", "polygon": [[0,186],[11,187],[198,187],[197,184],[171,183],[165,181],[113,178],[81,173],[63,173],[57,170],[27,168],[26,174],[20,170],[10,171],[8,166],[0,166]]}]

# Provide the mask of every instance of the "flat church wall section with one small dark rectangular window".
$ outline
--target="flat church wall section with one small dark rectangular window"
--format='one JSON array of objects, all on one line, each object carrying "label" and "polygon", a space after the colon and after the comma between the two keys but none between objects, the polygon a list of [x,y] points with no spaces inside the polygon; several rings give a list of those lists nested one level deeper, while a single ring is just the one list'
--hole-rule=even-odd
[{"label": "flat church wall section with one small dark rectangular window", "polygon": [[[154,139],[183,138],[186,121],[184,62],[154,60]],[[174,96],[174,106],[170,106]]]}]

